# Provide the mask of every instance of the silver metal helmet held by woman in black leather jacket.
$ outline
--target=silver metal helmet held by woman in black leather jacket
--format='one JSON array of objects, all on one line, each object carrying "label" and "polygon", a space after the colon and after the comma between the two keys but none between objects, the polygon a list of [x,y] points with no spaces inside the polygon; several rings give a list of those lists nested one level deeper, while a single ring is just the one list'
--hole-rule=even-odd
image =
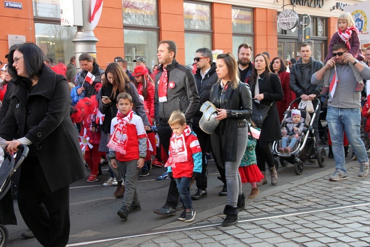
[{"label": "silver metal helmet held by woman in black leather jacket", "polygon": [[203,116],[200,118],[199,127],[207,134],[212,134],[220,123],[216,119],[218,113],[216,106],[206,101],[200,107],[200,111],[203,113]]}]

